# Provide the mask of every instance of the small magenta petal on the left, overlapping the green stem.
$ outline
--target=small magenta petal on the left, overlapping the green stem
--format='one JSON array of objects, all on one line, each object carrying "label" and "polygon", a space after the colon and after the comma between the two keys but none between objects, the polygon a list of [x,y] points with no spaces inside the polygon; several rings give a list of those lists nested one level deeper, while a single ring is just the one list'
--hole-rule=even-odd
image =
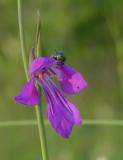
[{"label": "small magenta petal on the left, overlapping the green stem", "polygon": [[15,101],[26,106],[35,106],[39,103],[40,97],[36,90],[33,80],[30,80],[21,91],[21,93],[15,97]]}]

